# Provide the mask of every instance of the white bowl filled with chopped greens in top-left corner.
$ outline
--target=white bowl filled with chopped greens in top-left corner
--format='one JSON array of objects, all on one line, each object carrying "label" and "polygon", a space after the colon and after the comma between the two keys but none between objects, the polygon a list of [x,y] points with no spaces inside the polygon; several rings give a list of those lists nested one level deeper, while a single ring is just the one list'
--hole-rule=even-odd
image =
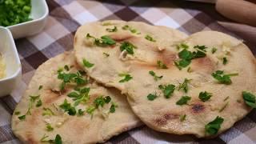
[{"label": "white bowl filled with chopped greens in top-left corner", "polygon": [[14,38],[38,34],[48,14],[46,0],[0,0],[0,26],[8,28]]}]

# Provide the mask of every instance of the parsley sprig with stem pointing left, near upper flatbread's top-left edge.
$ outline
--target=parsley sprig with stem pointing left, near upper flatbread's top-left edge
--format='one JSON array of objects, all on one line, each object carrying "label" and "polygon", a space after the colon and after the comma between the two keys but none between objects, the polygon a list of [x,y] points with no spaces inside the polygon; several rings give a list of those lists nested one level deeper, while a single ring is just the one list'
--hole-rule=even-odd
[{"label": "parsley sprig with stem pointing left, near upper flatbread's top-left edge", "polygon": [[116,44],[116,42],[107,35],[102,36],[100,39],[100,38],[95,38],[95,37],[91,36],[90,34],[86,34],[86,38],[94,38],[94,44],[96,46],[105,47],[105,46],[113,46]]}]

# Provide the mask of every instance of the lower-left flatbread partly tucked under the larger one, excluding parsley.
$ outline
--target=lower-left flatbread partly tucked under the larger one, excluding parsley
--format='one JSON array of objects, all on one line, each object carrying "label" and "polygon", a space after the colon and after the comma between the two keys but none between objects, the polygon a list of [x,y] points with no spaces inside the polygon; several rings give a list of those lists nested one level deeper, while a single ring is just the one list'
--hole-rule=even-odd
[{"label": "lower-left flatbread partly tucked under the larger one, excluding parsley", "polygon": [[[70,67],[70,70],[66,71],[66,73],[76,73],[81,70],[75,62],[74,54],[70,52],[50,58],[36,70],[12,117],[12,130],[22,142],[42,143],[42,139],[44,141],[54,140],[57,134],[61,136],[63,143],[105,142],[114,135],[142,124],[130,110],[124,95],[120,94],[116,89],[106,89],[91,80],[86,85],[86,87],[90,87],[89,101],[86,104],[80,103],[76,106],[77,114],[74,116],[67,114],[67,112],[64,113],[64,110],[59,106],[65,99],[73,106],[74,101],[72,98],[67,97],[67,94],[75,86],[74,84],[67,84],[66,89],[60,92],[59,86],[62,81],[57,78],[57,71],[65,65]],[[82,77],[86,78],[86,75]],[[41,90],[38,90],[39,86],[42,86]],[[39,99],[32,103],[31,115],[26,114],[30,105],[30,95],[39,95],[42,100],[42,106],[39,107],[36,106]],[[103,98],[110,96],[111,101],[103,107],[99,106],[98,109],[94,110],[93,115],[84,112],[84,115],[78,116],[78,109],[86,110],[87,107],[94,106],[95,98],[100,96],[103,96]],[[118,105],[118,107],[115,107],[114,113],[109,112],[112,102]],[[46,114],[43,116],[44,108],[50,108],[54,115]],[[23,114],[26,114],[26,119],[20,120],[18,117]],[[47,123],[54,130],[47,131]]]}]

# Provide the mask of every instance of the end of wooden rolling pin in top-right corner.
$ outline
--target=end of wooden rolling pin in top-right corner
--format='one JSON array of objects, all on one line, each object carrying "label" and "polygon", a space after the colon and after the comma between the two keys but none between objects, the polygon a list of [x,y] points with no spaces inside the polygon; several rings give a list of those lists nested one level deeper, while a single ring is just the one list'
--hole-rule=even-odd
[{"label": "end of wooden rolling pin in top-right corner", "polygon": [[250,26],[256,26],[256,4],[253,2],[245,0],[217,0],[215,8],[226,18]]}]

